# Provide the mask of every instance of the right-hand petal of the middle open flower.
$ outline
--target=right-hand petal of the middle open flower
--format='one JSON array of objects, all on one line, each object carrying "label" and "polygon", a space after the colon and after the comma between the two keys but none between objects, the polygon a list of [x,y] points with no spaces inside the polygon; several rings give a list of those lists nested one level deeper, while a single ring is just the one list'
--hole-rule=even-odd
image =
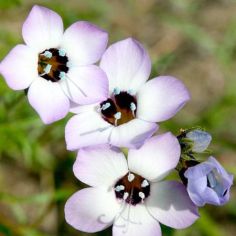
[{"label": "right-hand petal of the middle open flower", "polygon": [[137,117],[150,122],[168,120],[190,99],[184,84],[171,76],[148,81],[137,95]]}]

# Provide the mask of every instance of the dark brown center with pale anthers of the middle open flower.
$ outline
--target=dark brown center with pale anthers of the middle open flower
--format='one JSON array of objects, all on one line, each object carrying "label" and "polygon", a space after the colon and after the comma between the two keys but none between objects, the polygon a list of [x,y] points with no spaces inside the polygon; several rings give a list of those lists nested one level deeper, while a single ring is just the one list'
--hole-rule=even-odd
[{"label": "dark brown center with pale anthers of the middle open flower", "polygon": [[100,104],[105,121],[118,126],[133,120],[136,116],[137,101],[132,92],[114,89],[112,96]]}]

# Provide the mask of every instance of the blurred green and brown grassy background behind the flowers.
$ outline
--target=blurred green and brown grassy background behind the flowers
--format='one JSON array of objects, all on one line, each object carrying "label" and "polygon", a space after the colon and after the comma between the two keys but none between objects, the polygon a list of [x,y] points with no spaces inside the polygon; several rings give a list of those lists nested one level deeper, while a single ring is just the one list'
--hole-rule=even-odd
[{"label": "blurred green and brown grassy background behind the flowers", "polygon": [[[0,0],[0,59],[22,43],[21,26],[34,4],[57,11],[65,27],[77,20],[99,25],[110,43],[130,36],[141,41],[153,61],[152,75],[174,75],[192,94],[161,132],[206,128],[213,155],[236,175],[235,0]],[[0,79],[0,235],[88,235],[64,220],[66,199],[82,187],[71,171],[75,153],[65,148],[67,120],[43,125],[24,93]],[[234,236],[236,188],[227,205],[200,213],[190,228],[163,227],[163,235]]]}]

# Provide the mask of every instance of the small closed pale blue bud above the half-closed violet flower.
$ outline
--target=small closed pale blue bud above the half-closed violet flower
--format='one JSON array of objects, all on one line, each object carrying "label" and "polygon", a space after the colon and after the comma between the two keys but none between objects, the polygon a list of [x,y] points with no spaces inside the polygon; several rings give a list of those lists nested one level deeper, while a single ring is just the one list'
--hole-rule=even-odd
[{"label": "small closed pale blue bud above the half-closed violet flower", "polygon": [[187,132],[186,138],[192,141],[191,150],[197,153],[204,152],[208,148],[212,140],[212,137],[209,133],[200,129],[194,129],[190,132]]}]

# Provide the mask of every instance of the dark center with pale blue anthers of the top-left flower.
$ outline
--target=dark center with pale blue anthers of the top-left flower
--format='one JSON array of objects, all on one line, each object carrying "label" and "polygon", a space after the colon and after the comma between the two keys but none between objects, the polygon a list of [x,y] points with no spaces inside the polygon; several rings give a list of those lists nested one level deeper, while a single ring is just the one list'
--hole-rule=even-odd
[{"label": "dark center with pale blue anthers of the top-left flower", "polygon": [[47,49],[38,55],[38,74],[46,80],[58,82],[66,77],[68,61],[63,49]]}]

